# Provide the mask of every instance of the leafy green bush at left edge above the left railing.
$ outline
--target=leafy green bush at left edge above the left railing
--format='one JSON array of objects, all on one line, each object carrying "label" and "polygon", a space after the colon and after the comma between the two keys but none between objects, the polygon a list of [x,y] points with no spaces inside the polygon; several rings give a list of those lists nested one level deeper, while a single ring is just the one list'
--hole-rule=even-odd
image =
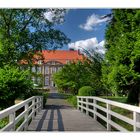
[{"label": "leafy green bush at left edge above the left railing", "polygon": [[0,68],[0,107],[14,104],[16,98],[29,96],[33,85],[28,71],[20,71],[16,67],[5,65]]}]

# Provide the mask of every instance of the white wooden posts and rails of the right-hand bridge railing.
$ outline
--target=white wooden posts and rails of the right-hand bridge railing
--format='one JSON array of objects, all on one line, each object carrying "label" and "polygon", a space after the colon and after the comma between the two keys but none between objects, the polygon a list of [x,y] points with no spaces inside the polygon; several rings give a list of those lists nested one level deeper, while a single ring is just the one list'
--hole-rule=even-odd
[{"label": "white wooden posts and rails of the right-hand bridge railing", "polygon": [[[89,99],[92,99],[93,102],[89,102]],[[97,102],[102,102],[106,104],[106,107],[97,104]],[[89,108],[92,106],[93,109]],[[125,110],[129,110],[133,113],[132,118],[128,118],[122,114],[114,112],[111,109],[111,106],[116,106],[119,108],[123,108]],[[97,117],[101,118],[106,122],[107,130],[111,130],[111,126],[115,127],[119,131],[128,131],[126,128],[122,127],[121,125],[117,124],[111,119],[111,116],[116,117],[130,125],[133,126],[133,131],[140,131],[140,107],[128,105],[124,103],[119,103],[116,101],[111,101],[99,97],[94,96],[77,96],[77,107],[82,112],[85,110],[86,114],[88,115],[89,112],[94,114],[94,119],[97,120]],[[106,116],[102,115],[97,109],[106,113]]]}]

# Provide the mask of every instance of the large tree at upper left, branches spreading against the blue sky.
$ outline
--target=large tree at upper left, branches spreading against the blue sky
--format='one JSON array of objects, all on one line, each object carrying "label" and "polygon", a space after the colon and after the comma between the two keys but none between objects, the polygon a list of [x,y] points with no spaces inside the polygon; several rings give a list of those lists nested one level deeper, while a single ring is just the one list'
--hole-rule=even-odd
[{"label": "large tree at upper left, branches spreading against the blue sky", "polygon": [[[45,14],[53,14],[52,22]],[[56,49],[70,40],[54,28],[63,22],[64,9],[1,9],[0,66],[17,64],[20,60],[32,63],[33,55],[42,49]]]}]

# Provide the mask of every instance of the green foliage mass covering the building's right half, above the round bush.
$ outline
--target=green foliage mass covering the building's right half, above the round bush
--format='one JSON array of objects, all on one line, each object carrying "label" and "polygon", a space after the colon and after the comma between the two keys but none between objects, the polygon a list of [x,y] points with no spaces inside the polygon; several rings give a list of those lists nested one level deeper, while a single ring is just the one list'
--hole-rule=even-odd
[{"label": "green foliage mass covering the building's right half, above the round bush", "polygon": [[60,92],[78,94],[83,86],[94,87],[96,93],[101,93],[102,58],[95,52],[85,51],[88,58],[66,64],[53,78]]}]

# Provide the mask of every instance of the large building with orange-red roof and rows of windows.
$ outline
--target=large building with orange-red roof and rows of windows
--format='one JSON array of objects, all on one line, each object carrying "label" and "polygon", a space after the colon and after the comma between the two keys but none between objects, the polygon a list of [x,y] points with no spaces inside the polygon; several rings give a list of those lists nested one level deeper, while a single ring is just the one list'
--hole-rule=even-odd
[{"label": "large building with orange-red roof and rows of windows", "polygon": [[43,59],[36,59],[32,66],[32,80],[35,85],[41,84],[44,88],[56,87],[52,75],[65,64],[84,58],[79,51],[75,50],[43,50],[41,53]]}]

